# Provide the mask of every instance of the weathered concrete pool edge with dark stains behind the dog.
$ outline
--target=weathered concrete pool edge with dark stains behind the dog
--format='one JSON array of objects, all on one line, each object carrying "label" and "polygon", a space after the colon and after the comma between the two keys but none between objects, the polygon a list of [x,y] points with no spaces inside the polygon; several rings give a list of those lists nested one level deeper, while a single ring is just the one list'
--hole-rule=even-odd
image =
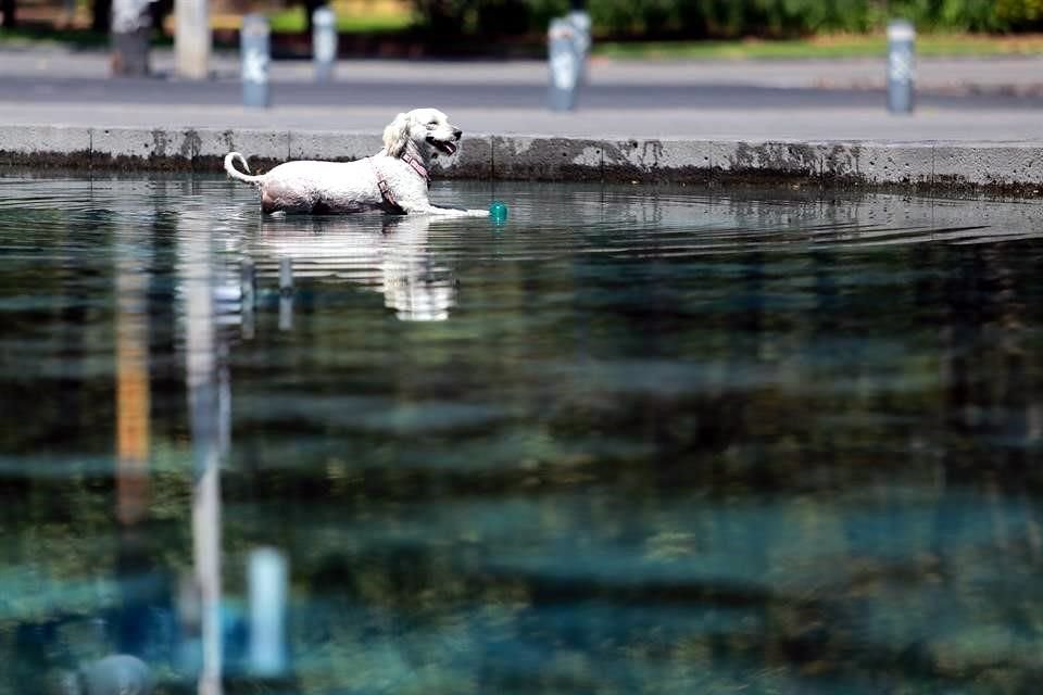
[{"label": "weathered concrete pool edge with dark stains behind the dog", "polygon": [[[216,128],[0,126],[0,165],[221,172],[242,152],[255,170],[287,160],[350,161],[380,148],[374,132]],[[654,181],[987,191],[1043,195],[1043,142],[591,140],[472,136],[436,175],[522,180]]]}]

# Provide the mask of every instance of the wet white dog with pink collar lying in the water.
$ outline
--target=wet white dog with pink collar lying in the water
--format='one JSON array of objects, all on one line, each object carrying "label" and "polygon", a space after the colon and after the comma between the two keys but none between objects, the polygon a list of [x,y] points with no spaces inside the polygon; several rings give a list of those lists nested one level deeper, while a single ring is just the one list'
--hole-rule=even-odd
[{"label": "wet white dog with pink collar lying in the water", "polygon": [[[382,210],[397,214],[483,216],[485,210],[432,205],[427,198],[432,154],[452,156],[463,132],[437,109],[400,113],[384,129],[384,149],[356,162],[287,162],[267,174],[249,176],[247,160],[238,152],[225,155],[231,178],[253,184],[261,191],[265,213],[357,213]],[[239,161],[248,174],[239,172]]]}]

